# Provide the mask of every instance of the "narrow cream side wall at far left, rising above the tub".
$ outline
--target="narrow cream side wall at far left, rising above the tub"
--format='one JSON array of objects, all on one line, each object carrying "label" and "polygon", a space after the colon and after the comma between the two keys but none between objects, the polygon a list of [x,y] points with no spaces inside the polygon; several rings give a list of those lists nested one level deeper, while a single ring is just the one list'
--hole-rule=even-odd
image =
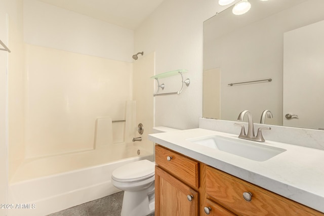
[{"label": "narrow cream side wall at far left, rising above the tub", "polygon": [[[9,178],[24,157],[24,104],[23,104],[23,1],[5,0],[2,8],[8,13],[8,143]],[[3,15],[3,12],[1,13]]]}]

